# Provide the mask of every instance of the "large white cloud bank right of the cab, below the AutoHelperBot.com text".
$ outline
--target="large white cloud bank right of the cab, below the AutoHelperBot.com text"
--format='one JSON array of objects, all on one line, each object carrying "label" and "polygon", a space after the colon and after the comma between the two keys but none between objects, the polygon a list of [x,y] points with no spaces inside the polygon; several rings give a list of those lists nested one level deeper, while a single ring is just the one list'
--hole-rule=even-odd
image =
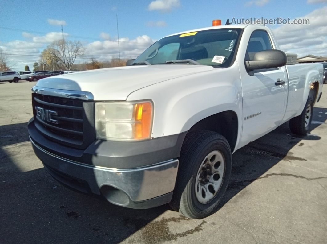
[{"label": "large white cloud bank right of the cab, below the AutoHelperBot.com text", "polygon": [[309,19],[310,24],[285,24],[273,30],[280,49],[298,56],[327,56],[327,7],[318,8],[296,19]]}]

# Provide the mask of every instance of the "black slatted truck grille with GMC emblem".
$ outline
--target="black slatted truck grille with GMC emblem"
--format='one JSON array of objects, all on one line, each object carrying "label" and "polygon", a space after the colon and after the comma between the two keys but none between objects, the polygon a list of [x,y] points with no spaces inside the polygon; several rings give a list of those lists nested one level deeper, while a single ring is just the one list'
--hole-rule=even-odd
[{"label": "black slatted truck grille with GMC emblem", "polygon": [[95,140],[94,102],[32,93],[34,122],[48,139],[85,149]]}]

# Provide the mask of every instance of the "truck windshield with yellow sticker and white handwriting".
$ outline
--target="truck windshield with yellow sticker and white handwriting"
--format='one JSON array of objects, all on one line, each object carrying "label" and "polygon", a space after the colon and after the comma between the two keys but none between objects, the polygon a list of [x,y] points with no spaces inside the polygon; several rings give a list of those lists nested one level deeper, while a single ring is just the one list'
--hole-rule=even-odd
[{"label": "truck windshield with yellow sticker and white handwriting", "polygon": [[151,65],[167,61],[193,60],[200,65],[229,67],[235,55],[241,29],[214,29],[160,39],[145,50],[133,63]]}]

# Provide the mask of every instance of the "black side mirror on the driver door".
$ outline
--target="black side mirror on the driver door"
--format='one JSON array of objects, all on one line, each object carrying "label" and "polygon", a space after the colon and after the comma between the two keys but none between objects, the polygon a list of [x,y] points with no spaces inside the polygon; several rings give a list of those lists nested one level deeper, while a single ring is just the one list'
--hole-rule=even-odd
[{"label": "black side mirror on the driver door", "polygon": [[287,56],[281,50],[264,50],[254,54],[252,61],[245,61],[249,70],[271,69],[286,65]]}]

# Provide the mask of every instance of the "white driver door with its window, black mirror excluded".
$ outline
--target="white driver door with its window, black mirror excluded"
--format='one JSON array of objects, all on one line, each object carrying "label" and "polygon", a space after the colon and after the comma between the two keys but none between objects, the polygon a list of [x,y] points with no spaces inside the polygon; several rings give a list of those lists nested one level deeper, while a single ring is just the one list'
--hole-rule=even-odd
[{"label": "white driver door with its window, black mirror excluded", "polygon": [[[273,49],[270,37],[264,30],[252,33],[245,61],[253,60],[256,52]],[[243,92],[243,145],[275,129],[285,113],[285,66],[248,72],[242,76]]]}]

